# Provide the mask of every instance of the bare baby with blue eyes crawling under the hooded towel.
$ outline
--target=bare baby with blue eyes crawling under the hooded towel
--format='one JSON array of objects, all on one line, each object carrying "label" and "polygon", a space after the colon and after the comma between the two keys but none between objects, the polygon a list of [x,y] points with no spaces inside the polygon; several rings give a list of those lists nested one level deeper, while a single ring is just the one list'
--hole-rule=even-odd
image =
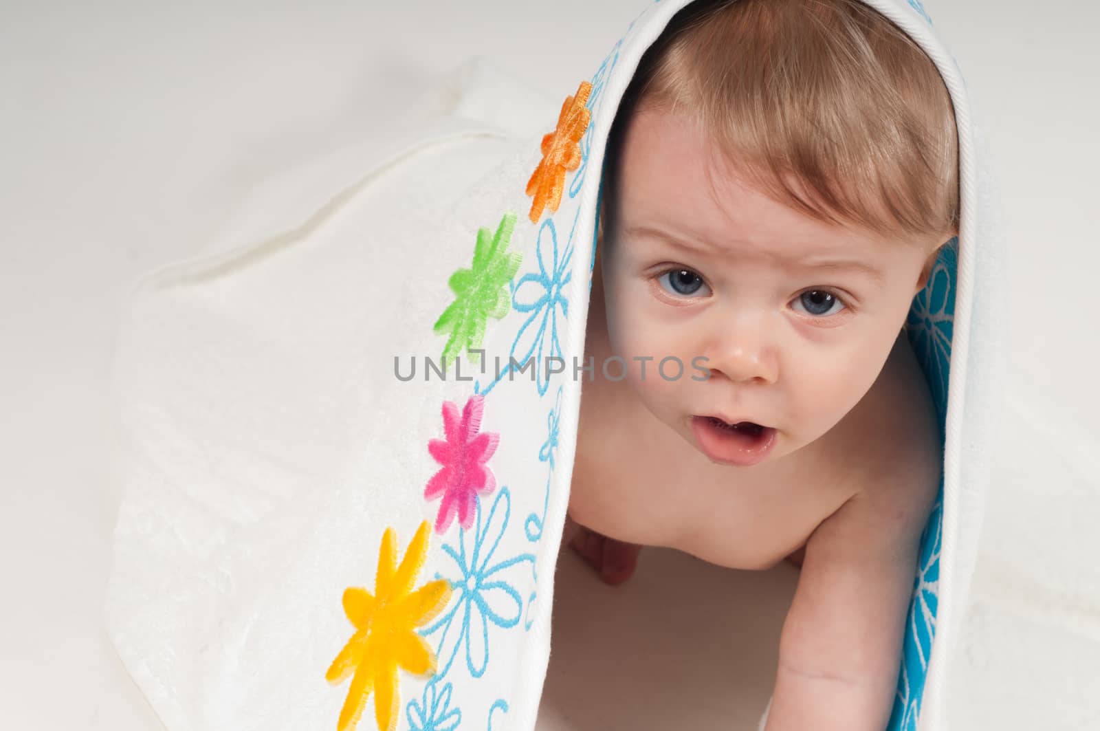
[{"label": "bare baby with blue eyes crawling under the hooded towel", "polygon": [[902,326],[958,227],[947,89],[856,0],[694,3],[607,154],[585,357],[626,375],[583,386],[566,541],[612,583],[641,545],[792,557],[768,731],[881,731],[943,462]]}]

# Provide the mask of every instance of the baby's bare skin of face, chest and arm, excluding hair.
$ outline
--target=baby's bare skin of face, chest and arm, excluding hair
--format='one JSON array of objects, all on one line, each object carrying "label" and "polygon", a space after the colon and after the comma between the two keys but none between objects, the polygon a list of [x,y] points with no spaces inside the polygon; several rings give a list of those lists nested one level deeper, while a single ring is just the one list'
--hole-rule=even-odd
[{"label": "baby's bare skin of face, chest and arm, excluding hair", "polygon": [[[943,239],[813,219],[718,160],[688,117],[631,119],[564,539],[610,583],[645,545],[801,564],[767,731],[881,731],[942,466],[901,327]],[[671,361],[658,372],[669,356],[679,379]]]}]

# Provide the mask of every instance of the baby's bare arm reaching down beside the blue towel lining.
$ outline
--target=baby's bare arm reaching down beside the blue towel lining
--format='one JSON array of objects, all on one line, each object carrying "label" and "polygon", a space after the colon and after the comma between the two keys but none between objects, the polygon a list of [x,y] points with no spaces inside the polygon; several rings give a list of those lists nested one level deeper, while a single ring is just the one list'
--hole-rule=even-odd
[{"label": "baby's bare arm reaching down beside the blue towel lining", "polygon": [[921,531],[937,487],[920,472],[857,493],[807,541],[767,731],[886,728]]}]

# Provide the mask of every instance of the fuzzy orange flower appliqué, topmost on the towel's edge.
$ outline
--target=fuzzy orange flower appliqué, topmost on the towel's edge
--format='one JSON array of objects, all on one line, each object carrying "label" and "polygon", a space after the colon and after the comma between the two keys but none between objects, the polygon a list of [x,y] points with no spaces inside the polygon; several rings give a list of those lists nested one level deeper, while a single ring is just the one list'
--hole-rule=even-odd
[{"label": "fuzzy orange flower appliqu\u00e9, topmost on the towel's edge", "polygon": [[585,107],[590,94],[592,85],[581,81],[576,96],[565,97],[561,106],[558,129],[542,138],[542,161],[527,182],[527,195],[535,196],[530,212],[532,223],[538,222],[547,208],[558,211],[565,172],[581,166],[581,138],[592,121],[592,112]]}]

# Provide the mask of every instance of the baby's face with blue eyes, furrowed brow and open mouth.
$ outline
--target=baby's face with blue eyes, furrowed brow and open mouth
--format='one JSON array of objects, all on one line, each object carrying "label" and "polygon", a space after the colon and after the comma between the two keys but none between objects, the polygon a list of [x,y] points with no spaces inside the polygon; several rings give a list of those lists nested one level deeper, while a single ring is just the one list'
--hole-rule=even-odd
[{"label": "baby's face with blue eyes, furrowed brow and open mouth", "polygon": [[[690,120],[637,112],[603,286],[612,348],[641,401],[712,461],[746,466],[813,443],[867,393],[935,244],[814,220],[718,159]],[[679,379],[673,361],[658,373],[667,356],[683,362]],[[693,358],[707,380],[691,378],[703,375]]]}]

